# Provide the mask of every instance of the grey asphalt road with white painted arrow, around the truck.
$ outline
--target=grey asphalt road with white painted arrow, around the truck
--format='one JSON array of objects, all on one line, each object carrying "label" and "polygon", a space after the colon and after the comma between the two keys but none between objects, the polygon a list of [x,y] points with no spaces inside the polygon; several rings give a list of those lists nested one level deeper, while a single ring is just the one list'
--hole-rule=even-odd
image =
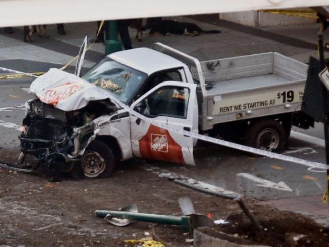
[{"label": "grey asphalt road with white painted arrow, around the truck", "polygon": [[[26,90],[30,78],[0,81],[0,148],[19,146],[19,128],[24,117],[24,103],[34,97]],[[307,134],[322,137],[323,127],[316,125]],[[5,151],[5,150],[3,150]],[[287,155],[323,163],[324,148],[294,138],[290,139]],[[142,168],[156,166],[171,173],[235,191],[263,200],[322,195],[326,173],[315,173],[300,164],[266,157],[251,157],[237,150],[202,144],[195,150],[197,166],[178,166],[165,162],[137,160]],[[147,173],[147,171],[145,171]],[[133,176],[133,174],[132,174]]]}]

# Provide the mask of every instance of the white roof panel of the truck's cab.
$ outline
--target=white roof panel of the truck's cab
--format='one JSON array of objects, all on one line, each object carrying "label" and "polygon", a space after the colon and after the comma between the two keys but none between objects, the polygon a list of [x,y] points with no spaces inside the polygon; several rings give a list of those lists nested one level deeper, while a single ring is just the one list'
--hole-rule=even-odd
[{"label": "white roof panel of the truck's cab", "polygon": [[108,57],[148,75],[160,70],[186,66],[175,58],[144,47],[115,52]]}]

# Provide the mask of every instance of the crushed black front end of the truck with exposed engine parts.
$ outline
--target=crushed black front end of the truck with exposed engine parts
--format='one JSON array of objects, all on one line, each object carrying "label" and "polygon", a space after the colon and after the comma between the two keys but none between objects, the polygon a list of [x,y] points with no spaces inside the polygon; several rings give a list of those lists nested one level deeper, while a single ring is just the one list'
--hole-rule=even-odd
[{"label": "crushed black front end of the truck with exposed engine parts", "polygon": [[38,98],[30,100],[19,136],[21,151],[48,169],[70,171],[95,139],[98,129],[93,120],[115,110],[109,100],[91,101],[75,111],[57,109]]}]

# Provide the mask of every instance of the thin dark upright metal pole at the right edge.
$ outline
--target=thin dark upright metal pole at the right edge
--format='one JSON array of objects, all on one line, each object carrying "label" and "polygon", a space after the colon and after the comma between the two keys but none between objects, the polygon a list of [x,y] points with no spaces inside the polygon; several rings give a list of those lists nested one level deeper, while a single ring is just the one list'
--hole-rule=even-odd
[{"label": "thin dark upright metal pole at the right edge", "polygon": [[[325,68],[324,63],[324,45],[323,45],[323,32],[318,33],[318,49],[321,64],[321,70]],[[329,118],[328,118],[328,92],[324,85],[322,85],[323,93],[323,123],[324,123],[324,140],[325,140],[325,157],[326,164],[329,164]],[[329,169],[327,169],[327,176],[329,176]],[[329,190],[329,181],[327,181],[327,190]]]}]

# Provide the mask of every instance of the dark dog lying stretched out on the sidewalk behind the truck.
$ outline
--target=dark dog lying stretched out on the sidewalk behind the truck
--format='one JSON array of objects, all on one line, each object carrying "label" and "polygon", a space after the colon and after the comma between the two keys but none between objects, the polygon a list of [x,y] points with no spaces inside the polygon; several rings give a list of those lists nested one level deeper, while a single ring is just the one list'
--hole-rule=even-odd
[{"label": "dark dog lying stretched out on the sidewalk behind the truck", "polygon": [[161,33],[163,36],[169,34],[198,36],[201,33],[220,33],[219,30],[203,30],[198,25],[190,22],[179,22],[172,20],[162,20],[152,25],[150,34],[155,32]]}]

